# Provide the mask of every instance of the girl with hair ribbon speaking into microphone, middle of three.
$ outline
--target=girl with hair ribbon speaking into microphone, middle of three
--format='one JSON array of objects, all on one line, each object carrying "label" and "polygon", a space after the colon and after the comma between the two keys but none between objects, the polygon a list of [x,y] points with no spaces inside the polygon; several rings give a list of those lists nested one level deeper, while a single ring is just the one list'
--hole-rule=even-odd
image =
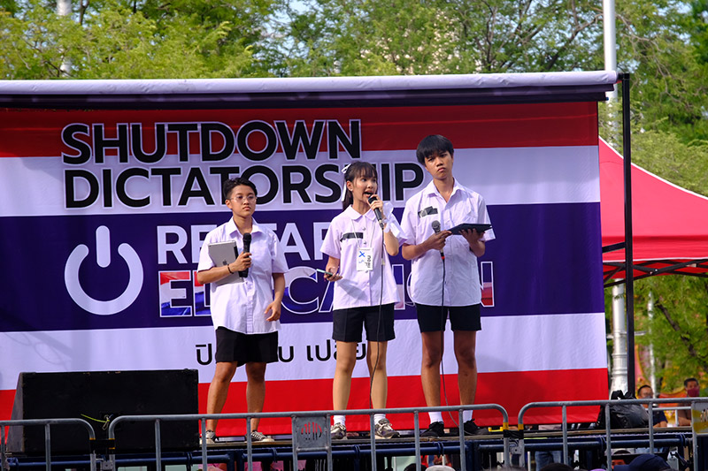
[{"label": "girl with hair ribbon speaking into microphone, middle of three", "polygon": [[[381,409],[386,407],[387,396],[386,350],[389,340],[395,338],[394,305],[399,300],[389,255],[398,254],[402,232],[392,206],[376,195],[373,165],[351,163],[344,172],[344,210],[329,225],[321,249],[329,256],[329,274],[324,277],[336,282],[332,338],[337,359],[332,396],[335,410],[346,409],[357,345],[362,327],[366,327],[366,364],[373,376],[371,402],[373,408]],[[374,214],[376,209],[382,211],[383,228]],[[346,438],[344,419],[344,415],[335,415],[333,439]],[[375,414],[374,424],[377,437],[399,435],[384,414]]]}]

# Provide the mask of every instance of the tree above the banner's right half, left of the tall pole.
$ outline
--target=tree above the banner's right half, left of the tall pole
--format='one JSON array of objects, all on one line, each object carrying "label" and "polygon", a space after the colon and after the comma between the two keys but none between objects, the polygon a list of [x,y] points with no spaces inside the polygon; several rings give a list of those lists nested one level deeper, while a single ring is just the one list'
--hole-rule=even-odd
[{"label": "tree above the banner's right half, left of the tall pole", "polygon": [[[596,69],[586,0],[310,0],[281,30],[280,75]],[[600,56],[601,57],[601,56]]]}]

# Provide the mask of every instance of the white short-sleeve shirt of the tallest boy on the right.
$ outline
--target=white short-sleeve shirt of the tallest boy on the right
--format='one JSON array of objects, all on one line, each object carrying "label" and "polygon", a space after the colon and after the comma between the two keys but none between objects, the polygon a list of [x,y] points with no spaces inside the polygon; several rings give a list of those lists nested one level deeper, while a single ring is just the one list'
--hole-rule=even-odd
[{"label": "white short-sleeve shirt of the tallest boy on the right", "polygon": [[[433,234],[433,221],[447,230],[458,224],[489,224],[487,206],[481,194],[455,182],[450,201],[431,181],[419,193],[406,201],[401,226],[406,243],[418,245]],[[484,233],[485,242],[494,239],[494,231]],[[445,286],[443,300],[443,261],[440,252],[428,250],[411,262],[410,295],[413,302],[440,306],[471,306],[481,302],[480,272],[477,257],[461,235],[445,240]]]}]

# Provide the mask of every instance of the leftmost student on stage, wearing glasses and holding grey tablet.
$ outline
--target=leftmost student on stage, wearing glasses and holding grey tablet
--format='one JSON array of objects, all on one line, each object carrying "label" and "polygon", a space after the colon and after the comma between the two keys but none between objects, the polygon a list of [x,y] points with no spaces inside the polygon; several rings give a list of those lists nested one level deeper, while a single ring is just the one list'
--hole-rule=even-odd
[{"label": "leftmost student on stage, wearing glasses and holding grey tablet", "polygon": [[[209,284],[216,330],[216,370],[209,386],[206,413],[221,412],[228,386],[241,365],[246,368],[248,412],[258,413],[263,411],[266,399],[266,365],[278,361],[278,319],[288,264],[277,236],[253,218],[256,186],[249,179],[229,179],[224,183],[223,194],[231,217],[206,234],[196,273],[197,282]],[[234,240],[237,247],[243,247],[244,237],[250,238],[250,249],[242,250],[235,262],[222,265],[212,261],[211,244]],[[250,420],[251,440],[273,441],[258,431],[258,422],[257,418]],[[214,419],[206,422],[207,444],[217,441],[217,423]]]}]

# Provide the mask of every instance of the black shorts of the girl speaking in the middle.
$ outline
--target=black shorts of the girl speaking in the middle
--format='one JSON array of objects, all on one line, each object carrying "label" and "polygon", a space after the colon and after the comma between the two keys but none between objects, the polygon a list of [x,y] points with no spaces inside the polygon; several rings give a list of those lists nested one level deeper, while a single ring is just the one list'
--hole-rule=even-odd
[{"label": "black shorts of the girl speaking in the middle", "polygon": [[361,342],[361,328],[366,327],[366,340],[387,342],[396,338],[393,331],[393,303],[366,308],[335,309],[332,312],[332,338],[340,342]]}]

